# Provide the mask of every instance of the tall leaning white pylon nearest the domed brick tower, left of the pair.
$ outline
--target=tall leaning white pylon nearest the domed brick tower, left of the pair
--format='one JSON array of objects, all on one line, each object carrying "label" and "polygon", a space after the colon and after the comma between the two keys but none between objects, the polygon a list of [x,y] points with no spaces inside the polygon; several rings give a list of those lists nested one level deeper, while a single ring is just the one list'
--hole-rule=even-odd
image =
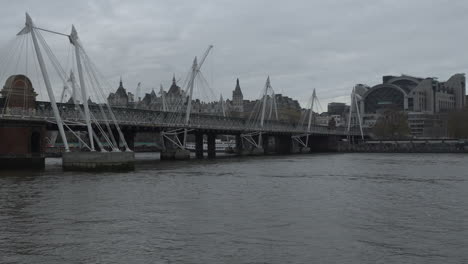
[{"label": "tall leaning white pylon nearest the domed brick tower, left of the pair", "polygon": [[34,24],[32,22],[31,17],[28,13],[26,13],[26,27],[20,33],[31,33],[31,37],[33,39],[34,50],[36,51],[37,60],[39,62],[39,67],[41,68],[42,77],[44,78],[44,83],[47,88],[47,94],[49,95],[50,104],[52,106],[52,110],[54,112],[55,120],[57,122],[57,126],[60,132],[60,136],[63,140],[63,145],[65,147],[65,151],[69,152],[70,148],[68,147],[67,137],[65,136],[65,130],[63,129],[63,122],[62,118],[60,117],[60,113],[58,111],[57,103],[55,101],[54,92],[52,91],[52,85],[50,84],[49,74],[47,73],[47,68],[44,63],[44,58],[42,57],[41,49],[39,44],[37,43],[36,32],[34,31]]}]

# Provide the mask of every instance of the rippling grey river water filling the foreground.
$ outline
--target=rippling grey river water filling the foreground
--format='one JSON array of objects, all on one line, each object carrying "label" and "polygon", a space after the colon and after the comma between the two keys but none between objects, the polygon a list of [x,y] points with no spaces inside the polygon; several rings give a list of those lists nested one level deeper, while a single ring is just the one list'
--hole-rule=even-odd
[{"label": "rippling grey river water filling the foreground", "polygon": [[467,263],[468,156],[0,172],[1,263]]}]

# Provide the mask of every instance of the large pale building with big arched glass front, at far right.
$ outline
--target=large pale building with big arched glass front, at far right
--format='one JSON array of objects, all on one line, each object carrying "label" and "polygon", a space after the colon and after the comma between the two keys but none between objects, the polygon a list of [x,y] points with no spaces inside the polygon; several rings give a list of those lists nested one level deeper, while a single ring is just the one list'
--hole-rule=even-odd
[{"label": "large pale building with big arched glass front, at far right", "polygon": [[373,127],[383,111],[393,109],[408,114],[413,136],[433,137],[434,131],[446,131],[440,127],[445,123],[444,113],[466,105],[464,74],[455,74],[445,82],[409,75],[383,76],[382,80],[382,84],[367,89],[358,102],[365,127]]}]

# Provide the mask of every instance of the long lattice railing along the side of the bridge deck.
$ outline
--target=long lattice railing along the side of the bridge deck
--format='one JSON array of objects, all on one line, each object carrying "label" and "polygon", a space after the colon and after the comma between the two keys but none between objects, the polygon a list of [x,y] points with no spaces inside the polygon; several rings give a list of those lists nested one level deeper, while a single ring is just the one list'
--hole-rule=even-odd
[{"label": "long lattice railing along the side of the bridge deck", "polygon": [[[92,115],[99,123],[112,123],[110,113],[107,109],[100,109],[97,105],[91,105]],[[84,124],[80,111],[73,104],[59,104],[59,111],[64,121]],[[192,114],[190,122],[185,125],[185,113],[162,112],[152,110],[140,110],[131,108],[112,109],[120,125],[151,126],[151,127],[173,127],[192,129],[216,129],[236,131],[261,131],[261,132],[286,132],[286,133],[316,133],[347,135],[344,127],[329,128],[326,126],[312,126],[308,131],[307,126],[298,125],[293,122],[265,120],[263,126],[248,124],[247,120],[235,117],[223,117],[206,114]],[[105,115],[102,114],[105,113]],[[3,118],[10,119],[34,119],[55,122],[50,104],[40,104],[35,109],[7,108],[2,114]],[[0,117],[2,117],[0,116]],[[356,129],[351,134],[358,135]]]}]

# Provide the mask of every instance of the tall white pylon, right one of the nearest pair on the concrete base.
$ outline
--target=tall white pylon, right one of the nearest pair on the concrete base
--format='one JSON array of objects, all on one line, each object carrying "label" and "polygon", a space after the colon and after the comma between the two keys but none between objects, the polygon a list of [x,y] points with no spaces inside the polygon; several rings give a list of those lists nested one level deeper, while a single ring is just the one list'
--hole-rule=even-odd
[{"label": "tall white pylon, right one of the nearest pair on the concrete base", "polygon": [[86,126],[88,127],[89,142],[91,143],[91,151],[96,151],[94,148],[93,128],[91,127],[91,118],[89,114],[88,106],[88,94],[86,92],[86,84],[83,76],[83,68],[81,66],[80,56],[80,45],[78,43],[78,33],[76,32],[75,26],[72,26],[72,32],[70,34],[70,42],[75,46],[76,64],[78,67],[78,77],[80,79],[81,86],[81,98],[83,100],[83,107],[85,112]]}]

